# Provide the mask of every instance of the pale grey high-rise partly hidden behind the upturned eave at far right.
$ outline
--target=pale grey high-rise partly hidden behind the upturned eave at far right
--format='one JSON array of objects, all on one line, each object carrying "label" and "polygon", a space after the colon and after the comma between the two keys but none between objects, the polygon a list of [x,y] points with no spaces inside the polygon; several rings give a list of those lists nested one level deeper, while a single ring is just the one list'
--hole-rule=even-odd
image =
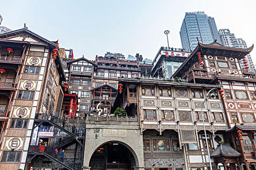
[{"label": "pale grey high-rise partly hidden behind the upturned eave at far right", "polygon": [[[230,33],[229,29],[220,29],[219,35],[221,39],[221,43],[224,46],[228,47],[236,47],[236,48],[247,48],[245,41],[242,38],[236,38],[233,33]],[[251,60],[251,56],[248,54],[245,56],[246,62],[248,64],[249,72],[256,72],[253,66],[253,62]],[[243,69],[245,69],[245,64],[243,60],[240,60],[240,64]]]}]

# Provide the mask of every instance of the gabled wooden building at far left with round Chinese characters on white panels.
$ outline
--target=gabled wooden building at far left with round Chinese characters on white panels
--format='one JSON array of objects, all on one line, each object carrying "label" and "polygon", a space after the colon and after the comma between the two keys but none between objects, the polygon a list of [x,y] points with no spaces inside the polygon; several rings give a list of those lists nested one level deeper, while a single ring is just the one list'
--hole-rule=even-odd
[{"label": "gabled wooden building at far left with round Chinese characters on white panels", "polygon": [[[71,134],[68,123],[65,129],[56,121],[62,121],[57,117],[65,114],[74,115],[77,97],[65,95],[69,90],[65,89],[57,42],[23,28],[0,35],[0,55],[0,169],[25,169],[38,157],[42,160],[39,150],[32,154],[34,146],[39,149],[39,143],[45,143],[45,147],[53,147],[55,131]],[[69,101],[69,105],[62,107],[62,101]]]}]

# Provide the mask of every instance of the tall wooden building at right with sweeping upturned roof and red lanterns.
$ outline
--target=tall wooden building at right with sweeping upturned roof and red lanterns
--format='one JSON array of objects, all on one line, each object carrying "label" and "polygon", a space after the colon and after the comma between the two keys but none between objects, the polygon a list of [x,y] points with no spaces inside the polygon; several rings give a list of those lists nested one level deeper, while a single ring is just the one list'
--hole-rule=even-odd
[{"label": "tall wooden building at right with sweeping upturned roof and red lanterns", "polygon": [[[239,169],[255,169],[256,158],[255,130],[256,130],[256,80],[255,75],[242,69],[239,60],[252,51],[249,48],[225,47],[213,42],[198,46],[183,62],[173,75],[182,77],[188,82],[222,85],[224,90],[224,108],[228,120],[229,130],[224,142],[241,155],[230,158],[231,167]],[[239,140],[238,130],[242,131]],[[236,164],[236,165],[235,165]]]}]

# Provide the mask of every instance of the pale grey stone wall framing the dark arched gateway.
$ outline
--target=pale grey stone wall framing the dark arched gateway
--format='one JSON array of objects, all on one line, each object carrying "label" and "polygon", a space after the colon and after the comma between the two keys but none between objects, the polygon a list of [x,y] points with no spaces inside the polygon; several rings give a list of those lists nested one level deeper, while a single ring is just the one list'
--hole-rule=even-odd
[{"label": "pale grey stone wall framing the dark arched gateway", "polygon": [[[103,129],[87,129],[84,148],[83,169],[90,169],[90,160],[94,152],[102,145],[110,142],[120,143],[126,147],[135,159],[134,169],[144,169],[143,140],[140,130],[127,130],[126,136],[104,136]],[[127,137],[128,136],[128,137]]]}]

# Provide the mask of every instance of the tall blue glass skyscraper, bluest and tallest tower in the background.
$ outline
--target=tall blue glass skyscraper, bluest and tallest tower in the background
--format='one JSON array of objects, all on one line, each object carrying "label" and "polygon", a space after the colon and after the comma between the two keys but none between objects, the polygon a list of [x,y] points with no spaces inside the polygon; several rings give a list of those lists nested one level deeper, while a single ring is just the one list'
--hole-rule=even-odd
[{"label": "tall blue glass skyscraper, bluest and tallest tower in the background", "polygon": [[182,47],[187,50],[194,50],[200,42],[209,44],[217,40],[221,43],[218,29],[213,17],[204,12],[186,12],[180,29]]}]

